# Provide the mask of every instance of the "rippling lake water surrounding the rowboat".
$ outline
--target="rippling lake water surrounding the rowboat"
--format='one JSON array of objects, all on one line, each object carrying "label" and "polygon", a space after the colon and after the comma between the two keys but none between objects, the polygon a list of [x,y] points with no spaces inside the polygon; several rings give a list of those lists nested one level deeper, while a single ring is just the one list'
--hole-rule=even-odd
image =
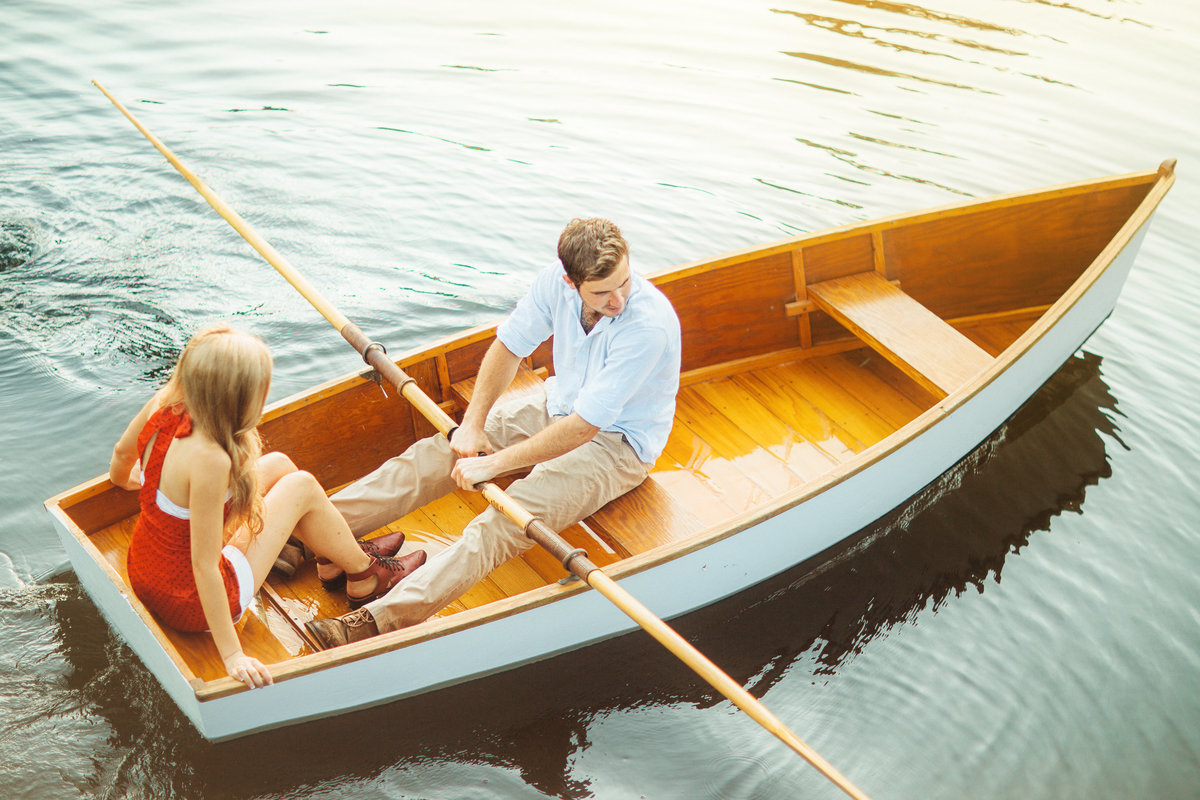
[{"label": "rippling lake water surrounding the rowboat", "polygon": [[1200,796],[1198,52],[1190,0],[5,0],[0,796],[842,796],[644,636],[202,740],[41,503],[199,325],[266,338],[274,399],[361,365],[92,78],[394,351],[506,313],[572,216],[654,271],[1177,157],[1016,417],[679,627],[876,800]]}]

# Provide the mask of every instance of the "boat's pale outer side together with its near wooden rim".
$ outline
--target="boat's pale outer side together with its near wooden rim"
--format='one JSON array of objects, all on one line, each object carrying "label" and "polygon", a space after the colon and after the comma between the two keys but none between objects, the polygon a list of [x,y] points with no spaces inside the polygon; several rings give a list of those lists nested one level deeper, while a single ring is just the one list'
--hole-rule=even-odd
[{"label": "boat's pale outer side together with its near wooden rim", "polygon": [[[673,542],[666,555],[661,548],[634,554],[605,571],[653,613],[671,619],[798,564],[829,558],[832,548],[952,470],[1082,345],[1112,312],[1164,192],[1148,199],[1070,288],[960,390],[818,480],[692,533]],[[484,342],[472,342],[476,339]],[[104,489],[101,483],[97,479],[95,486],[73,492],[95,495]],[[336,657],[332,651],[304,656],[274,685],[239,691],[228,679],[217,685],[221,681],[181,672],[178,652],[170,651],[149,613],[61,507],[68,495],[74,497],[66,493],[48,500],[47,507],[80,584],[210,740],[389,703],[636,628],[604,596],[575,581],[377,637],[382,644],[349,645]],[[109,517],[121,518],[115,512]]]}]

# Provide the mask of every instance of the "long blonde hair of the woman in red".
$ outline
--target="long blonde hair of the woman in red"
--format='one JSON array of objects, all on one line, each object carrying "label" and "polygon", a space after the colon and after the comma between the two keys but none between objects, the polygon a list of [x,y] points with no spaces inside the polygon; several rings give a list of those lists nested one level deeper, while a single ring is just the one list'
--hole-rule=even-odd
[{"label": "long blonde hair of the woman in red", "polygon": [[263,452],[258,422],[271,386],[271,354],[260,338],[214,325],[192,337],[163,387],[163,405],[182,403],[192,426],[229,455],[227,530],[263,529],[256,462]]}]

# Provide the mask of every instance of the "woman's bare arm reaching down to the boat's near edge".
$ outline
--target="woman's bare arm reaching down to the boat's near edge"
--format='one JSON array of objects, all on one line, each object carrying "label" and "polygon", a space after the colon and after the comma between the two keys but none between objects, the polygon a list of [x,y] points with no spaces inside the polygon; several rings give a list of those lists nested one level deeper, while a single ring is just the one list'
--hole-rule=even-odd
[{"label": "woman's bare arm reaching down to the boat's near edge", "polygon": [[188,463],[188,509],[192,529],[192,573],[204,619],[217,645],[226,672],[251,688],[271,682],[271,673],[241,650],[241,640],[229,619],[229,601],[221,579],[221,547],[224,531],[224,494],[229,487],[229,456],[216,445],[203,447]]}]

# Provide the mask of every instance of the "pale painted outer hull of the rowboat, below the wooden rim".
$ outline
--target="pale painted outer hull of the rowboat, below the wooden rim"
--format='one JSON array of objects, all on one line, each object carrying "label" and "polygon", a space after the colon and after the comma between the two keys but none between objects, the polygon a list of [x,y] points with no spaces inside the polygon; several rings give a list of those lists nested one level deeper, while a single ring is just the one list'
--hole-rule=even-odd
[{"label": "pale painted outer hull of the rowboat, below the wooden rim", "polygon": [[[996,431],[1111,313],[1145,228],[1093,287],[1026,353],[934,425],[869,469],[811,498],[666,564],[620,579],[655,614],[671,619],[749,589],[835,547],[917,494]],[[925,425],[923,419],[910,425]],[[866,461],[864,458],[864,461]],[[272,686],[200,702],[128,599],[60,524],[80,583],[114,628],[202,734],[241,736],[368,708],[512,669],[637,626],[598,593],[584,591],[402,649],[300,675]],[[137,632],[143,631],[143,636]]]}]

